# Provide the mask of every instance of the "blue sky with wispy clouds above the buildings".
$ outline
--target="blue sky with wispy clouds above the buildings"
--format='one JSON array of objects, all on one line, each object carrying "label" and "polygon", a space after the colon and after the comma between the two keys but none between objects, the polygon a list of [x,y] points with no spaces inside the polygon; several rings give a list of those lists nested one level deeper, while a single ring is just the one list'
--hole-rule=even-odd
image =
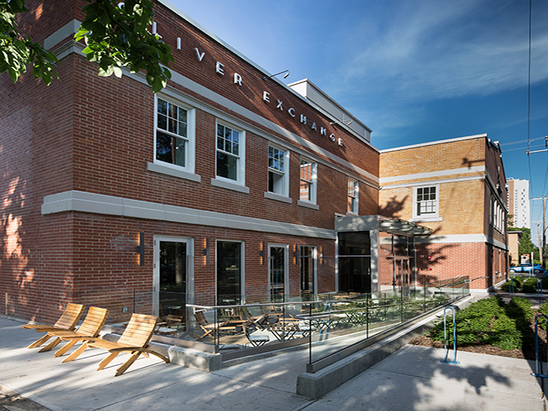
[{"label": "blue sky with wispy clouds above the buildings", "polygon": [[487,133],[506,177],[548,194],[548,154],[525,153],[528,129],[530,150],[548,136],[548,1],[532,0],[529,127],[527,0],[171,3],[266,71],[290,70],[287,83],[310,79],[378,149]]}]

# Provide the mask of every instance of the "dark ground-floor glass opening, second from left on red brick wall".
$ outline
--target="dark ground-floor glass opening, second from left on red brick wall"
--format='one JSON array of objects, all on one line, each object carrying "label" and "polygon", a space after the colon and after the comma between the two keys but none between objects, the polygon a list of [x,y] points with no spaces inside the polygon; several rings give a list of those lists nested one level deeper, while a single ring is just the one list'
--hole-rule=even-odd
[{"label": "dark ground-floor glass opening, second from left on red brick wall", "polygon": [[219,306],[242,302],[241,242],[217,242],[217,303]]}]

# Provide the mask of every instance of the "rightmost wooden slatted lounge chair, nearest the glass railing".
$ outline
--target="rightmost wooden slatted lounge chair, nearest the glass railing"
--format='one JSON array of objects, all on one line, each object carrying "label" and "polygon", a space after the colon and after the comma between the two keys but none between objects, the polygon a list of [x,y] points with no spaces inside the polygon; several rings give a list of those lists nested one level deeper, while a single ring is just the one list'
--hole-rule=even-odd
[{"label": "rightmost wooden slatted lounge chair, nearest the glass railing", "polygon": [[122,375],[125,370],[129,368],[139,356],[142,354],[153,354],[158,358],[169,362],[169,358],[162,356],[155,351],[149,349],[149,342],[152,338],[154,328],[158,323],[158,317],[145,314],[132,314],[132,318],[129,320],[127,327],[120,339],[115,343],[112,341],[103,340],[103,338],[79,338],[84,340],[84,344],[78,347],[70,356],[65,358],[62,362],[71,362],[75,360],[81,353],[83,353],[88,347],[97,347],[106,349],[110,354],[103,361],[99,363],[97,371],[102,370],[107,366],[119,353],[127,351],[132,354],[121,366],[116,369],[114,377]]}]

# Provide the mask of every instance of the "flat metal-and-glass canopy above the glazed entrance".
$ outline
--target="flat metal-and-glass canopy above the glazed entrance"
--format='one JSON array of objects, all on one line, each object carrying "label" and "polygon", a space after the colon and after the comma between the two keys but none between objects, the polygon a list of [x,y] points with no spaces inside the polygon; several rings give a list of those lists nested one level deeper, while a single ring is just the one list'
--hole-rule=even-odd
[{"label": "flat metal-and-glass canopy above the glazed entrance", "polygon": [[369,231],[373,229],[408,237],[429,236],[431,234],[428,227],[410,221],[388,219],[379,215],[349,216],[335,219],[335,230],[337,232]]}]

